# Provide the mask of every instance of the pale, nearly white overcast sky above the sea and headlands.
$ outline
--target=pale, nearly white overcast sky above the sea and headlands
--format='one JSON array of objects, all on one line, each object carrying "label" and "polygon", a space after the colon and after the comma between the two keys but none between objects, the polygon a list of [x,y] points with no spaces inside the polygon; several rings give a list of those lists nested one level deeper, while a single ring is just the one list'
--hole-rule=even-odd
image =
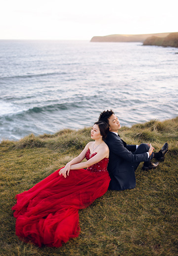
[{"label": "pale, nearly white overcast sky above the sea and headlands", "polygon": [[2,0],[0,39],[178,32],[178,0]]}]

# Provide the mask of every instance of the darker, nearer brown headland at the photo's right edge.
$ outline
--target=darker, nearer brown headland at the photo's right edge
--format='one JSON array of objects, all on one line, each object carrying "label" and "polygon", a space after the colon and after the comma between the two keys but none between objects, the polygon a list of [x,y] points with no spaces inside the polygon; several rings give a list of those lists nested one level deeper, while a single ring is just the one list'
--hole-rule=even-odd
[{"label": "darker, nearer brown headland at the photo's right edge", "polygon": [[143,45],[156,45],[156,46],[163,46],[163,47],[176,47],[178,48],[178,32],[170,33],[166,37],[157,37],[151,36],[148,37],[144,42]]}]

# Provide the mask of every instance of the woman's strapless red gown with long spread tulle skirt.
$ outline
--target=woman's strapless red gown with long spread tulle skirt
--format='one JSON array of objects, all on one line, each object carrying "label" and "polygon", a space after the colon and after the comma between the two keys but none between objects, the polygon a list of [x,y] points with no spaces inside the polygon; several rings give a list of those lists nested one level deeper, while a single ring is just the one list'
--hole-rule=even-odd
[{"label": "woman's strapless red gown with long spread tulle skirt", "polygon": [[[86,158],[93,157],[89,150]],[[15,210],[16,235],[25,242],[41,247],[60,247],[80,233],[79,209],[86,208],[108,189],[108,158],[87,170],[71,170],[59,176],[59,170],[29,191],[17,194]]]}]

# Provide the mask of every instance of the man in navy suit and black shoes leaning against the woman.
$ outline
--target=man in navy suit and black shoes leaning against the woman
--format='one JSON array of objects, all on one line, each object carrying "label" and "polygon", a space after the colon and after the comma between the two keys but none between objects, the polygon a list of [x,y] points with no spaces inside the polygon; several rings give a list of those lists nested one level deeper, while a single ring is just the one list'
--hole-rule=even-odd
[{"label": "man in navy suit and black shoes leaning against the woman", "polygon": [[145,143],[128,145],[118,135],[121,128],[118,118],[112,110],[103,111],[99,121],[109,125],[109,132],[104,140],[109,147],[108,172],[111,178],[109,190],[127,190],[135,187],[135,170],[140,162],[144,162],[142,169],[149,170],[158,166],[159,162],[152,163],[154,157],[164,160],[168,152],[168,143],[165,143],[158,153],[153,153],[154,147]]}]

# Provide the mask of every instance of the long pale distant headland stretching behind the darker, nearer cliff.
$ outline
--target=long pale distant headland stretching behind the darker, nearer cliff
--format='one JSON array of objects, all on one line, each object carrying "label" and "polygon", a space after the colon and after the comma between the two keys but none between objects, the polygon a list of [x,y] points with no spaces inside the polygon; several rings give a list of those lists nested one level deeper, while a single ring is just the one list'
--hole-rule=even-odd
[{"label": "long pale distant headland stretching behind the darker, nearer cliff", "polygon": [[164,38],[170,33],[94,36],[90,42],[144,42],[148,37]]}]

